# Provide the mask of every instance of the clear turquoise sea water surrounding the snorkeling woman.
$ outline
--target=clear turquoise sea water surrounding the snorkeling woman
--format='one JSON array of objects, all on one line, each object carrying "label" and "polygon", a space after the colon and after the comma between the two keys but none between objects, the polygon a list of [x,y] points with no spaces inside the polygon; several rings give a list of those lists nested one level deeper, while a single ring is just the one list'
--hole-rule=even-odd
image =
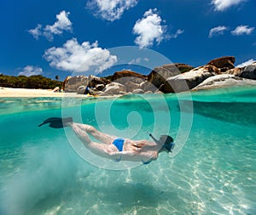
[{"label": "clear turquoise sea water surrounding the snorkeling woman", "polygon": [[[256,88],[195,92],[193,113],[187,93],[69,102],[66,114],[134,139],[147,138],[153,124],[158,136],[170,122],[175,139],[189,129],[177,155],[123,170],[84,161],[68,129],[38,127],[63,115],[63,99],[0,99],[0,214],[256,214],[255,96]],[[158,125],[154,116],[169,118]]]}]

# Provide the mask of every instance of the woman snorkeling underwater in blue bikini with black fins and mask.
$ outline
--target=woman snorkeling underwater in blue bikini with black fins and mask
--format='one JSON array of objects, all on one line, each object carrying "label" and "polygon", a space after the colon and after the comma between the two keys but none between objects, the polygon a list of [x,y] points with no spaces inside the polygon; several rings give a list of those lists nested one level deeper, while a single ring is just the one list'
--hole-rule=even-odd
[{"label": "woman snorkeling underwater in blue bikini with black fins and mask", "polygon": [[[49,123],[49,127],[55,128],[71,127],[88,150],[98,156],[114,161],[142,161],[144,164],[148,164],[150,161],[156,160],[159,153],[163,151],[172,152],[175,145],[169,135],[161,135],[160,139],[155,139],[151,133],[148,133],[153,141],[117,138],[102,133],[90,125],[73,122],[71,117],[64,119],[49,118],[39,126],[45,123]],[[91,140],[90,136],[100,143]]]}]

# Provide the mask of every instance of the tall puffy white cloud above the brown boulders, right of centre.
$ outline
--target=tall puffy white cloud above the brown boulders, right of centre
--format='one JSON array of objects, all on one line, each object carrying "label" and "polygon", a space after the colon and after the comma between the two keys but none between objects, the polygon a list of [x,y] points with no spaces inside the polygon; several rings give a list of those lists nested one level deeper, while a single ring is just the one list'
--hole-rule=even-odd
[{"label": "tall puffy white cloud above the brown boulders, right of centre", "polygon": [[135,43],[140,48],[152,46],[154,41],[160,43],[165,38],[166,26],[161,25],[162,19],[157,14],[157,9],[149,9],[143,18],[137,20],[133,27],[133,33],[139,35]]}]

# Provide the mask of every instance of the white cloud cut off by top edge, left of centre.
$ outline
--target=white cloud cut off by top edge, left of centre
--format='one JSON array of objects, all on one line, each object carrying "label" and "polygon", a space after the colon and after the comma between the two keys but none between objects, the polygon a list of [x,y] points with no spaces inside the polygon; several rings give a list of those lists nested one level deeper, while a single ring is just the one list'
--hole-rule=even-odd
[{"label": "white cloud cut off by top edge, left of centre", "polygon": [[119,20],[125,10],[137,5],[138,0],[90,0],[86,6],[103,20]]}]

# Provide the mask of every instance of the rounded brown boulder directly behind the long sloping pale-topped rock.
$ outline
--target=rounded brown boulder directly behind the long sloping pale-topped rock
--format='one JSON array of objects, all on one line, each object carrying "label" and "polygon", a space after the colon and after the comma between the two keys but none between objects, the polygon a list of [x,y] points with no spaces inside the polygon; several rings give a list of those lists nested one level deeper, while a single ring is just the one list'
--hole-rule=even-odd
[{"label": "rounded brown boulder directly behind the long sloping pale-topped rock", "polygon": [[166,79],[171,76],[177,76],[183,71],[190,71],[193,67],[185,64],[171,64],[171,65],[162,65],[155,67],[153,71],[148,75],[148,82],[154,84],[156,88],[166,82]]}]

